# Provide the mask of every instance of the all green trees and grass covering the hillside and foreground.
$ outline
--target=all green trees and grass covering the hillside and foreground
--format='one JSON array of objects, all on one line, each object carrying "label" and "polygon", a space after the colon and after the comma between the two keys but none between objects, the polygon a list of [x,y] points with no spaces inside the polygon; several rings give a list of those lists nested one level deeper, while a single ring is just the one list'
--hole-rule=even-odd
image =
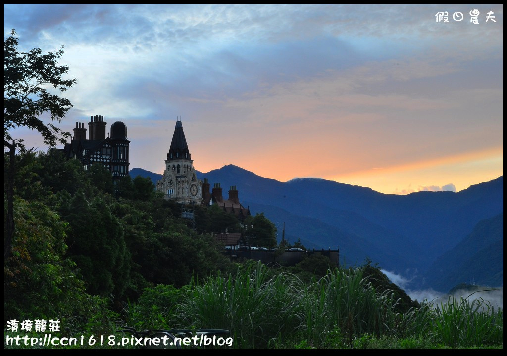
[{"label": "all green trees and grass covering the hillside and foreground", "polygon": [[[503,311],[487,302],[412,301],[370,261],[354,268],[325,258],[283,268],[232,263],[211,236],[239,229],[225,212],[196,207],[192,230],[150,179],[126,177],[115,187],[102,167],[85,172],[59,154],[16,160],[5,348],[47,347],[6,340],[44,334],[13,330],[14,321],[55,319],[61,328],[53,337],[84,340],[130,337],[121,331],[130,326],[227,329],[233,348],[503,347]],[[127,346],[51,348],[77,347]]]}]

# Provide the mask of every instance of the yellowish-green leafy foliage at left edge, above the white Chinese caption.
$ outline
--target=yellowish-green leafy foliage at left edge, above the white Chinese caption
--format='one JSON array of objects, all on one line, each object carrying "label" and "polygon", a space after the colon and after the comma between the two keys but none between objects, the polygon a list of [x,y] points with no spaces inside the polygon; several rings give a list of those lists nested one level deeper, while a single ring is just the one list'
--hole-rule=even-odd
[{"label": "yellowish-green leafy foliage at left edge, above the white Chinese caption", "polygon": [[14,207],[13,253],[4,260],[4,320],[83,311],[83,282],[64,255],[68,224],[39,202],[17,198]]}]

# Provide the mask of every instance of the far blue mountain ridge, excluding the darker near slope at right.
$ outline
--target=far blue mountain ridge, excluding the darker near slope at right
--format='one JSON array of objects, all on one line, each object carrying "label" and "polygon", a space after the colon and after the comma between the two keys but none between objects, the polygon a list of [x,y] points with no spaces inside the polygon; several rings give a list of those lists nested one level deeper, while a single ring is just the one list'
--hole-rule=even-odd
[{"label": "far blue mountain ridge, excluding the darker near slope at right", "polygon": [[265,212],[273,222],[286,219],[286,234],[291,238],[324,249],[340,247],[341,256],[352,263],[376,257],[383,268],[405,276],[422,277],[480,220],[503,212],[503,176],[459,192],[407,195],[322,178],[280,182],[235,165],[197,172],[197,177],[221,183],[224,190],[236,186],[240,202],[253,213]]}]

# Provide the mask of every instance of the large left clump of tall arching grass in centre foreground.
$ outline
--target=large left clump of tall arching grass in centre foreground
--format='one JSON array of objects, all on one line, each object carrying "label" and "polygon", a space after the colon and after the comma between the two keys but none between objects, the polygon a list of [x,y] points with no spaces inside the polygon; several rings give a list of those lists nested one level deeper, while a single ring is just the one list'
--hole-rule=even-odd
[{"label": "large left clump of tall arching grass in centre foreground", "polygon": [[228,329],[239,348],[265,348],[281,335],[291,335],[302,321],[301,289],[292,275],[269,278],[262,263],[219,275],[197,285],[192,299],[180,304],[188,324]]}]

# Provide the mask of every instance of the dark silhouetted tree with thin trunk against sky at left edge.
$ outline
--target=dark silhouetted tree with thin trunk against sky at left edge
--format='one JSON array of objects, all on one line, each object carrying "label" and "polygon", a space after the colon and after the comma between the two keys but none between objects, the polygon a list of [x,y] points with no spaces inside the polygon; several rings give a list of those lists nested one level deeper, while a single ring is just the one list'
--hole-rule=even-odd
[{"label": "dark silhouetted tree with thin trunk against sky at left edge", "polygon": [[[35,48],[29,52],[18,52],[18,37],[14,29],[4,41],[4,149],[9,150],[9,170],[7,187],[7,221],[4,234],[4,259],[11,252],[14,237],[14,172],[16,147],[24,151],[22,140],[15,140],[10,130],[27,127],[37,130],[44,143],[55,146],[65,143],[70,133],[57,126],[45,123],[41,116],[49,113],[51,121],[59,123],[73,107],[66,98],[53,94],[63,93],[76,83],[75,79],[64,79],[68,73],[67,65],[58,65],[63,56],[63,47],[54,53],[42,54]],[[51,89],[51,87],[53,89]]]}]

